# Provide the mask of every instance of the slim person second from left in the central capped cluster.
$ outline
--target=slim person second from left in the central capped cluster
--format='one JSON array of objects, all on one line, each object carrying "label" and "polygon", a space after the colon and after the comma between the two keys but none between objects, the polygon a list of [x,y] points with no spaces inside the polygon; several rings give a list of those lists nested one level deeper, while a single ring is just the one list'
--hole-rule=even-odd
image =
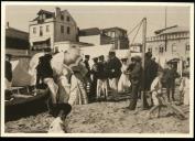
[{"label": "slim person second from left in the central capped cluster", "polygon": [[95,98],[97,96],[97,78],[98,78],[98,57],[95,57],[93,58],[94,61],[94,64],[91,66],[91,76],[93,76],[93,79],[91,79],[91,93],[90,93],[90,98]]}]

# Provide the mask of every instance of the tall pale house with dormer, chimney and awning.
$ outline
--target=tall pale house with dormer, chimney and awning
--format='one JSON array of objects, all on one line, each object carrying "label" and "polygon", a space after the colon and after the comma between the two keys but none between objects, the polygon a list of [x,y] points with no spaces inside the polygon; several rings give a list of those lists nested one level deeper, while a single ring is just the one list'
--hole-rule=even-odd
[{"label": "tall pale house with dormer, chimney and awning", "polygon": [[30,21],[31,50],[55,50],[54,43],[78,41],[78,28],[67,10],[55,12],[40,10],[37,17]]}]

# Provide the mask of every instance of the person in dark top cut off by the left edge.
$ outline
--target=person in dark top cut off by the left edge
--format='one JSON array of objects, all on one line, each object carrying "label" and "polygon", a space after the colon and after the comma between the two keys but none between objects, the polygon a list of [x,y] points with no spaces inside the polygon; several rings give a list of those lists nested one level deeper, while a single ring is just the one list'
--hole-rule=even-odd
[{"label": "person in dark top cut off by the left edge", "polygon": [[11,57],[11,54],[6,54],[6,89],[10,88],[12,84],[12,64],[10,63]]}]

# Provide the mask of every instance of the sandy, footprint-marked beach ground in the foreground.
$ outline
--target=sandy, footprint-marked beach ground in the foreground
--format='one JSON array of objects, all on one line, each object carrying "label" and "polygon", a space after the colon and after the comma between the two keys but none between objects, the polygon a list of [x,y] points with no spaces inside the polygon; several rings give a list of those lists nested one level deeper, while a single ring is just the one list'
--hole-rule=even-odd
[{"label": "sandy, footprint-marked beach ground in the foreground", "polygon": [[[138,101],[136,111],[126,107],[129,100],[99,101],[88,105],[76,105],[65,123],[68,133],[188,133],[189,107],[178,106],[186,115],[185,120],[167,108],[163,108],[161,118],[147,118],[149,110],[141,110]],[[47,132],[54,120],[47,112],[6,122],[6,132]]]}]

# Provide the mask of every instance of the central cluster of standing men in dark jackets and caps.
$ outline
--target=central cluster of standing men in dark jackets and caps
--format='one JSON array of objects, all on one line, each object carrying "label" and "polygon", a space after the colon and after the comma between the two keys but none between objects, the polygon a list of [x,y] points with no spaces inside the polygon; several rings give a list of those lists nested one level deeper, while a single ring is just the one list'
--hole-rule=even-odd
[{"label": "central cluster of standing men in dark jackets and caps", "polygon": [[111,89],[112,95],[118,93],[118,82],[121,75],[121,62],[115,52],[109,52],[108,58],[104,55],[94,57],[94,64],[89,67],[89,55],[85,55],[85,66],[88,69],[87,77],[90,82],[89,99],[99,100],[101,95],[108,98],[108,90]]}]

